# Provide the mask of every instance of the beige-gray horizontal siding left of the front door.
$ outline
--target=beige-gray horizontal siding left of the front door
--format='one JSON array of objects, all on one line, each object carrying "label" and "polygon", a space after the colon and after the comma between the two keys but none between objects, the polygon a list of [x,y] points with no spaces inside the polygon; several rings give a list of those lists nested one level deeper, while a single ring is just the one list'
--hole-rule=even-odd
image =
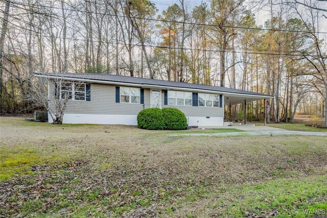
[{"label": "beige-gray horizontal siding left of the front door", "polygon": [[[144,103],[150,104],[150,89],[144,90]],[[91,84],[91,101],[69,100],[64,113],[137,115],[143,104],[116,103],[115,86]]]}]

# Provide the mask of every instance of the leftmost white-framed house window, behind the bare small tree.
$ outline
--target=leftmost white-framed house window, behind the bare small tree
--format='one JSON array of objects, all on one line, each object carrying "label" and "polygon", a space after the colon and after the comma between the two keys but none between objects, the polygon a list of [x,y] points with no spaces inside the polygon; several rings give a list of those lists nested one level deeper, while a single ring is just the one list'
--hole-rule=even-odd
[{"label": "leftmost white-framed house window, behind the bare small tree", "polygon": [[82,83],[62,83],[60,98],[70,100],[85,101],[85,84]]}]

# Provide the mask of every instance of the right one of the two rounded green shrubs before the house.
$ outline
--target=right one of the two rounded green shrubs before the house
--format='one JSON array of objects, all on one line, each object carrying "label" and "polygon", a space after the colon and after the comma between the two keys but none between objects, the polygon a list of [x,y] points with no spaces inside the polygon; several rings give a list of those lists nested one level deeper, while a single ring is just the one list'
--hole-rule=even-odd
[{"label": "right one of the two rounded green shrubs before the house", "polygon": [[166,130],[184,130],[188,125],[185,114],[177,108],[162,109]]}]

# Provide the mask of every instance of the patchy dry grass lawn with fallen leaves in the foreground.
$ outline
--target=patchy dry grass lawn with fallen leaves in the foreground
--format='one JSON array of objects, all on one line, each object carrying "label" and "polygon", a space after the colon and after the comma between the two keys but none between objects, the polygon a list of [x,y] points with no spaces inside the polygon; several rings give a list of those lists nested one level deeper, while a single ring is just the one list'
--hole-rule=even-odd
[{"label": "patchy dry grass lawn with fallen leaves in the foreground", "polygon": [[0,215],[305,217],[327,207],[326,137],[161,133],[1,117]]}]

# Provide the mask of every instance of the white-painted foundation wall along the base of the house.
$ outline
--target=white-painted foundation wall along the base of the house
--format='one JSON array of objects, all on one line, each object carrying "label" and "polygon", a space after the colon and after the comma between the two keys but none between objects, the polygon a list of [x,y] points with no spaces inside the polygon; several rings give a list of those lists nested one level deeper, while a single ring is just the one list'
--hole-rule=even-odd
[{"label": "white-painted foundation wall along the base of the house", "polygon": [[[119,115],[119,114],[78,114],[78,113],[65,113],[63,115],[64,124],[119,124],[136,126],[137,115]],[[53,120],[48,116],[49,123]],[[223,117],[197,117],[187,116],[189,126],[198,127],[220,127],[224,126]]]}]

